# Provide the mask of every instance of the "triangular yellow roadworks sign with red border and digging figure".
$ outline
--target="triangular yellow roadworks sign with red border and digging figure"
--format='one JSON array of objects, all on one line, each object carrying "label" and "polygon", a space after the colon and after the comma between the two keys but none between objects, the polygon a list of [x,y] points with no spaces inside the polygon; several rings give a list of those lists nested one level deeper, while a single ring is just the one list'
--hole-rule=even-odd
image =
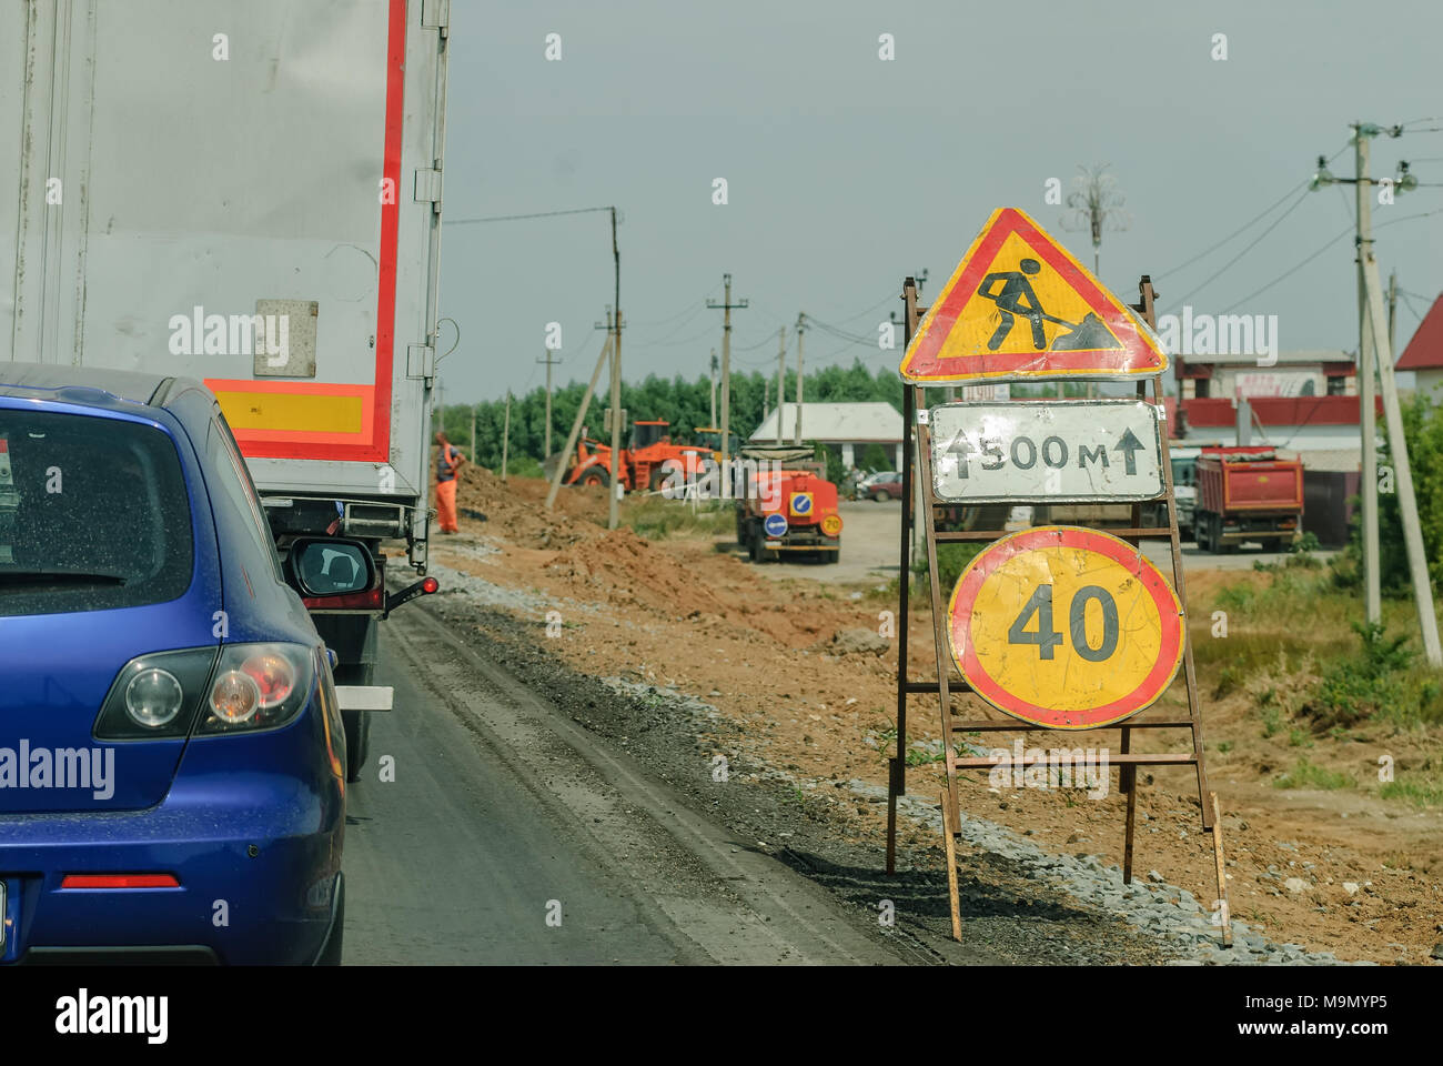
[{"label": "triangular yellow roadworks sign with red border and digging figure", "polygon": [[975,378],[1127,378],[1167,367],[1147,324],[1032,218],[999,208],[928,308],[900,373]]}]

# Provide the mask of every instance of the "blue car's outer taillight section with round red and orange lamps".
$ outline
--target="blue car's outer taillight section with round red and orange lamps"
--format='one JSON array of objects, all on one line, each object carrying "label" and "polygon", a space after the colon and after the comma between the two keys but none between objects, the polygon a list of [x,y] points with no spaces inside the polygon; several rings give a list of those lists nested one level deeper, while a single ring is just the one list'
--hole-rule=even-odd
[{"label": "blue car's outer taillight section with round red and orange lamps", "polygon": [[294,718],[315,688],[316,664],[302,644],[221,649],[196,735],[274,729]]}]

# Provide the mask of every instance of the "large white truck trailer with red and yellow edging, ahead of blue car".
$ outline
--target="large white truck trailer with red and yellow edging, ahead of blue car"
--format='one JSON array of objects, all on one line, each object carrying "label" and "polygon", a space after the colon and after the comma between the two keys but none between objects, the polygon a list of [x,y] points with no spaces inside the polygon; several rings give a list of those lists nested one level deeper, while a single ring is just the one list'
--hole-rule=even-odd
[{"label": "large white truck trailer with red and yellow edging, ahead of blue car", "polygon": [[[384,575],[401,539],[426,572],[449,10],[0,3],[0,360],[205,381],[283,555],[329,530]],[[338,685],[403,595],[316,611]]]}]

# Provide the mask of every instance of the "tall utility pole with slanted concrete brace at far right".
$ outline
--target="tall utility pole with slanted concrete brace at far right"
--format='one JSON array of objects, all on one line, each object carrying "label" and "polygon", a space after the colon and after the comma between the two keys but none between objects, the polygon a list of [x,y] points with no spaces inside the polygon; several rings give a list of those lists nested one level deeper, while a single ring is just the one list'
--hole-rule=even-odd
[{"label": "tall utility pole with slanted concrete brace at far right", "polygon": [[[1418,501],[1413,494],[1413,468],[1408,462],[1408,441],[1403,432],[1403,407],[1398,404],[1398,386],[1392,377],[1392,345],[1388,342],[1387,312],[1382,306],[1382,280],[1378,276],[1378,260],[1372,254],[1372,217],[1367,211],[1372,195],[1368,179],[1368,136],[1362,123],[1355,127],[1358,146],[1358,259],[1362,269],[1364,293],[1368,302],[1368,325],[1372,332],[1372,351],[1378,358],[1378,384],[1382,389],[1382,415],[1388,422],[1388,458],[1398,493],[1398,519],[1403,523],[1403,543],[1408,550],[1408,571],[1413,576],[1413,599],[1418,610],[1418,630],[1423,637],[1423,653],[1429,666],[1443,666],[1443,646],[1439,644],[1439,621],[1433,612],[1433,585],[1429,579],[1429,559],[1423,553],[1423,526],[1418,521]],[[1371,409],[1369,409],[1371,413]],[[1372,443],[1365,439],[1365,443]],[[1377,487],[1377,467],[1372,468]],[[1368,471],[1364,471],[1365,477]],[[1374,519],[1377,520],[1377,498]],[[1377,550],[1377,533],[1374,534]],[[1377,568],[1378,556],[1374,555]],[[1374,578],[1377,581],[1377,578]],[[1381,614],[1381,612],[1380,612]]]}]

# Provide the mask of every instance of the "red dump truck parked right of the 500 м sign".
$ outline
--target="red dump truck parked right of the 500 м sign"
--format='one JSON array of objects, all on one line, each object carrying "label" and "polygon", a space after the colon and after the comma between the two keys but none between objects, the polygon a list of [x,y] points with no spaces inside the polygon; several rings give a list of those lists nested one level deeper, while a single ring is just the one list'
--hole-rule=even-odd
[{"label": "red dump truck parked right of the 500 \u043c sign", "polygon": [[1244,540],[1281,550],[1303,527],[1303,464],[1273,448],[1203,448],[1193,524],[1203,552],[1235,552]]}]

